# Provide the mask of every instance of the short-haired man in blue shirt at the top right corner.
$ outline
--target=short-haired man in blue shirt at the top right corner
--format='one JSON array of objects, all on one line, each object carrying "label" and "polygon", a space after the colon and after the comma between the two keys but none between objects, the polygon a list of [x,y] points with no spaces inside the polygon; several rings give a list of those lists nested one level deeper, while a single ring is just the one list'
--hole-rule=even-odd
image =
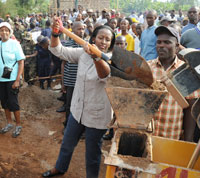
[{"label": "short-haired man in blue shirt at the top right corner", "polygon": [[199,12],[199,9],[196,7],[191,7],[188,10],[187,16],[189,19],[189,23],[185,27],[183,27],[181,34],[183,34],[189,29],[196,27],[196,24],[198,23],[198,12]]}]

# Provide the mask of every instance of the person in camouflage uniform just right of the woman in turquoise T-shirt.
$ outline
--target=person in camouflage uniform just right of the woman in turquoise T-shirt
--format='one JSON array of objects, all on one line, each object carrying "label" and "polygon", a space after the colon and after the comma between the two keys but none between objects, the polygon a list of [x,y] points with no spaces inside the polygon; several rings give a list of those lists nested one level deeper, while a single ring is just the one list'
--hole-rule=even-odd
[{"label": "person in camouflage uniform just right of the woman in turquoise T-shirt", "polygon": [[36,77],[37,51],[36,51],[36,44],[32,40],[31,33],[27,32],[25,34],[25,37],[22,43],[22,48],[26,56],[25,65],[24,65],[24,79],[26,82],[28,82],[29,85],[32,85],[33,82],[29,80]]}]

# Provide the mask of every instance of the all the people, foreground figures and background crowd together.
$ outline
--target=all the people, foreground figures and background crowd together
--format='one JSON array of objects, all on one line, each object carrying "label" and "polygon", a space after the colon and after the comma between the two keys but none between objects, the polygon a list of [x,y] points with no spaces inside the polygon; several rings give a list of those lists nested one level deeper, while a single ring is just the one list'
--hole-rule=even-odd
[{"label": "all the people, foreground figures and background crowd together", "polygon": [[[16,128],[13,137],[20,135],[20,108],[18,92],[20,77],[33,85],[36,76],[47,77],[51,89],[52,76],[61,73],[64,104],[58,112],[66,112],[64,137],[53,169],[43,173],[52,177],[67,172],[73,151],[81,138],[86,141],[86,173],[97,178],[101,160],[102,138],[109,140],[113,130],[105,134],[113,111],[104,87],[110,77],[109,65],[93,54],[88,43],[110,55],[114,45],[141,55],[149,64],[154,80],[161,80],[166,73],[180,67],[184,61],[178,52],[184,48],[200,49],[200,11],[191,7],[187,13],[175,10],[157,14],[155,10],[131,15],[104,8],[60,11],[57,14],[29,14],[25,18],[9,15],[1,19],[0,100],[5,110],[7,125],[0,130],[6,133]],[[66,28],[84,39],[84,46],[63,34]],[[21,44],[21,45],[20,45]],[[26,60],[25,60],[26,59]],[[11,76],[5,78],[5,68]],[[24,68],[24,74],[23,74]],[[44,89],[45,79],[40,79]],[[171,139],[195,141],[199,129],[191,116],[191,107],[200,97],[200,89],[187,96],[190,106],[182,109],[167,94],[154,116],[154,135]]]}]

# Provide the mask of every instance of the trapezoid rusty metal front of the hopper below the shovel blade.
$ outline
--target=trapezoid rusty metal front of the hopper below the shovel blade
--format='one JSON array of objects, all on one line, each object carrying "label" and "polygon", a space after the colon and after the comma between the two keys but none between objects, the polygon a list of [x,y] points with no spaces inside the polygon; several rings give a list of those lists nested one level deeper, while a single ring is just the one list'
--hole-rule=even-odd
[{"label": "trapezoid rusty metal front of the hopper below the shovel blade", "polygon": [[119,127],[147,128],[166,96],[165,91],[107,87]]}]

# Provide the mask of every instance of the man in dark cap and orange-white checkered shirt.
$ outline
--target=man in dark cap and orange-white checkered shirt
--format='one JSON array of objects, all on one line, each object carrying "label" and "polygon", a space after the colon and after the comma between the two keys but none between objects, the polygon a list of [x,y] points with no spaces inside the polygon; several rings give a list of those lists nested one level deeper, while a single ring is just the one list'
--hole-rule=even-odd
[{"label": "man in dark cap and orange-white checkered shirt", "polygon": [[[159,26],[155,34],[158,37],[156,43],[158,58],[148,63],[154,80],[160,80],[166,73],[174,71],[184,62],[176,56],[180,36],[174,28]],[[171,139],[180,139],[183,136],[184,140],[193,141],[196,123],[191,116],[191,106],[195,98],[199,97],[200,89],[186,97],[190,107],[182,109],[168,93],[154,116],[154,135]]]}]

